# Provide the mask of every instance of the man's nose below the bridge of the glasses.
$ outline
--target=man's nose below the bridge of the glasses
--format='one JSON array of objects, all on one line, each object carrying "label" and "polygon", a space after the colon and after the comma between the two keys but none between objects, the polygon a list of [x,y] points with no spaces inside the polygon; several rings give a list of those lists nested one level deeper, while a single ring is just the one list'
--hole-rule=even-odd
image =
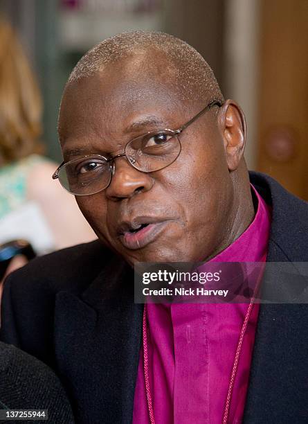
[{"label": "man's nose below the bridge of the glasses", "polygon": [[154,179],[150,174],[142,173],[128,164],[125,157],[114,161],[114,173],[106,195],[111,200],[131,198],[134,195],[151,190]]}]

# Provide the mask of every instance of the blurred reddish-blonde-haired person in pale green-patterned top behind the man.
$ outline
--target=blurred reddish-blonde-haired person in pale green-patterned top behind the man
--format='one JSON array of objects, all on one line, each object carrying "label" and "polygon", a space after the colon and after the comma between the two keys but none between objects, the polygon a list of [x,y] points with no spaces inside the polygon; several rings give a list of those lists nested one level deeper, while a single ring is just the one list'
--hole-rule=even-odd
[{"label": "blurred reddish-blonde-haired person in pale green-patterned top behind the man", "polygon": [[[0,20],[0,243],[24,238],[37,254],[96,238],[42,156],[42,99],[28,60]],[[10,270],[23,265],[18,258]]]}]

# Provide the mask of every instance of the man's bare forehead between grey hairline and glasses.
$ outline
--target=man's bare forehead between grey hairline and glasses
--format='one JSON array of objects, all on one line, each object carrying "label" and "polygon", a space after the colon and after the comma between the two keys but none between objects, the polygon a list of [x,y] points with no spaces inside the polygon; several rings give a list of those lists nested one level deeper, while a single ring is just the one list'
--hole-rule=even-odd
[{"label": "man's bare forehead between grey hairline and glasses", "polygon": [[[66,87],[59,119],[62,145],[84,137],[121,136],[136,123],[172,127],[188,116],[170,69],[133,57]],[[188,116],[189,117],[189,116]],[[185,119],[185,118],[184,118]],[[151,127],[149,127],[151,130]]]}]

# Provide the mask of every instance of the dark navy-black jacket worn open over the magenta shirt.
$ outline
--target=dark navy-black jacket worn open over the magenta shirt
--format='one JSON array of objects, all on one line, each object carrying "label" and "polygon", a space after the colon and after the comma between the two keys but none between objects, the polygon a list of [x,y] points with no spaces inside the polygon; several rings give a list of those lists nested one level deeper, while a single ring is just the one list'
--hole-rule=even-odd
[{"label": "dark navy-black jacket worn open over the magenta shirt", "polygon": [[[267,260],[308,262],[308,204],[266,175],[251,182],[273,208]],[[6,281],[1,339],[55,369],[79,423],[132,422],[143,312],[133,290],[132,270],[99,242],[37,258]],[[307,305],[260,306],[244,423],[308,422],[307,345]]]}]

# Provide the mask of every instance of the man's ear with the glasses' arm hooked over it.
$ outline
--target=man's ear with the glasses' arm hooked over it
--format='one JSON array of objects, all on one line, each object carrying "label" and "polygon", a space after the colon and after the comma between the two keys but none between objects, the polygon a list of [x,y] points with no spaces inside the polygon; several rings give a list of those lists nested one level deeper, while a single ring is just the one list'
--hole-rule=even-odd
[{"label": "man's ear with the glasses' arm hooked over it", "polygon": [[219,110],[219,126],[224,140],[226,161],[230,171],[236,170],[246,143],[244,112],[234,100],[226,100]]}]

